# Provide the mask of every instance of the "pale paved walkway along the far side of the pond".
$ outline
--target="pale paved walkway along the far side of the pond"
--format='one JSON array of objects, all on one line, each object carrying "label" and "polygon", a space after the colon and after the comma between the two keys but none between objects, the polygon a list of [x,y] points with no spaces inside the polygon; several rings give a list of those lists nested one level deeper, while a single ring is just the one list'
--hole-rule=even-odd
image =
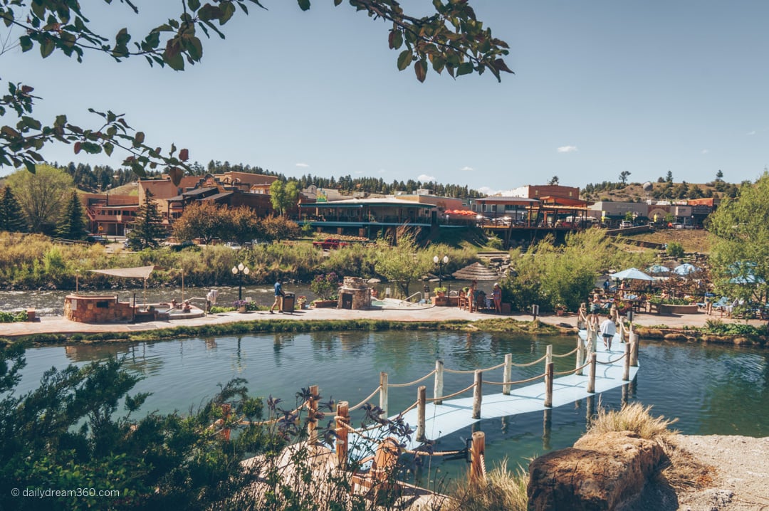
[{"label": "pale paved walkway along the far side of the pond", "polygon": [[[448,321],[465,320],[476,321],[498,317],[510,317],[515,320],[530,321],[531,314],[490,314],[485,312],[469,313],[457,307],[421,307],[414,309],[307,309],[296,310],[293,314],[268,314],[266,310],[258,312],[228,312],[222,314],[209,314],[206,317],[171,320],[151,321],[138,324],[85,324],[70,321],[62,316],[44,316],[32,323],[4,323],[0,324],[0,337],[18,337],[39,333],[102,333],[102,332],[136,332],[142,330],[156,330],[170,327],[197,327],[208,324],[225,324],[235,321],[259,321],[259,320],[386,320],[386,321]],[[540,316],[543,323],[560,325],[563,327],[577,327],[577,315],[567,316]],[[765,324],[761,320],[733,320],[729,317],[707,314],[636,314],[634,324],[644,327],[665,325],[671,328],[704,327],[707,320],[722,320],[724,323],[747,323],[754,326]]]}]

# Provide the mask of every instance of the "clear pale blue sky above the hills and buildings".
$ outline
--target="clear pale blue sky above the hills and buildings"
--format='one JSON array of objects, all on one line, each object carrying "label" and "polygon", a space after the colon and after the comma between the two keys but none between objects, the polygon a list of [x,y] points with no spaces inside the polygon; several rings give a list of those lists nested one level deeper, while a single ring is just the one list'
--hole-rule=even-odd
[{"label": "clear pale blue sky above the hills and buildings", "polygon": [[[105,26],[98,32],[113,38],[128,26],[135,40],[180,5],[141,0],[135,16],[118,2],[81,3]],[[203,61],[183,72],[98,54],[81,65],[44,61],[35,48],[0,56],[2,78],[35,87],[38,118],[95,125],[88,107],[125,112],[148,144],[289,177],[435,179],[493,192],[553,176],[582,187],[621,171],[702,183],[721,169],[726,181],[752,181],[769,164],[769,2],[471,0],[511,46],[516,74],[498,83],[430,72],[423,84],[412,68],[397,70],[388,24],[346,2],[315,0],[308,12],[294,0],[262,3],[268,11],[238,11],[225,41],[204,40]],[[402,3],[407,12],[431,4]],[[118,168],[125,154],[58,145],[44,156]]]}]

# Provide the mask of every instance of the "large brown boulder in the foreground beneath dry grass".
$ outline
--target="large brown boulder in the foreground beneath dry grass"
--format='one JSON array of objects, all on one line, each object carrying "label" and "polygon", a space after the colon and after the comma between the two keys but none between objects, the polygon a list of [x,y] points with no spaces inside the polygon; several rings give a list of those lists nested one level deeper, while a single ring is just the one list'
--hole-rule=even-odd
[{"label": "large brown boulder in the foreground beneath dry grass", "polygon": [[608,511],[630,503],[664,455],[631,431],[583,436],[529,466],[528,509]]}]

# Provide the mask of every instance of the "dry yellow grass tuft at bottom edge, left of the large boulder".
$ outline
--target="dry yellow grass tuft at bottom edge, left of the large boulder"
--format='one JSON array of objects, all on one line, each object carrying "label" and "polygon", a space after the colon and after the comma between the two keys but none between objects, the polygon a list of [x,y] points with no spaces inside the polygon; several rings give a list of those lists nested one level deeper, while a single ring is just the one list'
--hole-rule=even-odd
[{"label": "dry yellow grass tuft at bottom edge, left of the large boulder", "polygon": [[528,505],[526,487],[528,470],[522,466],[511,470],[508,459],[504,458],[494,466],[484,483],[467,483],[454,492],[453,505],[449,511],[525,511]]}]

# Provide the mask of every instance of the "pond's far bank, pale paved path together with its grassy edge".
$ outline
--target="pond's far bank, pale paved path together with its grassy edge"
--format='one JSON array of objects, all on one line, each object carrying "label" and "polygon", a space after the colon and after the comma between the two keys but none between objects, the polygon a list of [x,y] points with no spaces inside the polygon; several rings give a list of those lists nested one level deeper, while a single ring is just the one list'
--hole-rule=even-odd
[{"label": "pond's far bank, pale paved path together with its grassy edge", "polygon": [[[51,337],[48,342],[63,341],[67,338],[78,340],[82,337],[94,340],[152,340],[153,338],[188,337],[191,335],[218,333],[248,333],[251,331],[281,330],[337,330],[329,327],[334,322],[361,322],[358,328],[383,330],[396,327],[409,329],[468,329],[468,330],[515,330],[528,333],[574,333],[577,328],[577,316],[544,315],[538,322],[533,322],[530,314],[488,314],[470,313],[457,307],[414,307],[405,309],[373,308],[371,310],[348,310],[320,308],[295,310],[288,314],[269,314],[266,310],[239,313],[226,312],[208,314],[204,317],[178,319],[171,321],[150,321],[147,323],[128,324],[85,324],[70,321],[62,316],[43,316],[38,321],[26,323],[0,324],[0,337]],[[694,328],[705,327],[708,320],[721,320],[724,323],[750,324],[761,327],[764,322],[758,320],[734,320],[729,317],[708,316],[707,314],[636,314],[633,320],[639,333],[652,332],[651,338],[687,341],[696,340]],[[480,321],[480,323],[479,323]],[[264,322],[264,324],[261,324]],[[324,324],[326,327],[324,327]],[[226,328],[230,325],[230,328]],[[348,324],[346,328],[355,328]],[[673,332],[674,338],[657,332]],[[156,333],[153,336],[153,332]],[[58,337],[61,337],[59,339]],[[723,336],[722,336],[723,337]],[[642,337],[644,338],[644,337]],[[728,339],[728,337],[723,337]],[[738,338],[738,337],[735,337]],[[728,342],[722,340],[721,342]]]}]

